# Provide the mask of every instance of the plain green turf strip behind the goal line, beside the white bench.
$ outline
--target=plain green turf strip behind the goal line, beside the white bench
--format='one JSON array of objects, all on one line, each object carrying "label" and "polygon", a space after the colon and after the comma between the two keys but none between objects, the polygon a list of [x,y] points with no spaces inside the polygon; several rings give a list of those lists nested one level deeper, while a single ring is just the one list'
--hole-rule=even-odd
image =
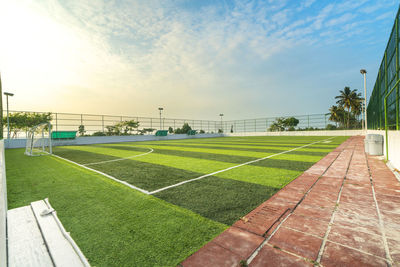
[{"label": "plain green turf strip behind the goal line, beside the white bench", "polygon": [[92,266],[176,266],[226,226],[51,156],[6,150],[9,208],[49,198]]}]

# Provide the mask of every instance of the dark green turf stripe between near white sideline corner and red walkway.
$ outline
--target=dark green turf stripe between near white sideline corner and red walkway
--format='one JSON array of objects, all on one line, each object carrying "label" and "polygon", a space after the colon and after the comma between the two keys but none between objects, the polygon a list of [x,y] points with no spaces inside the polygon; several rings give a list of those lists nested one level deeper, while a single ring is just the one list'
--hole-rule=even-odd
[{"label": "dark green turf stripe between near white sideline corner and red walkway", "polygon": [[230,225],[278,190],[275,187],[207,177],[161,191],[155,196]]}]

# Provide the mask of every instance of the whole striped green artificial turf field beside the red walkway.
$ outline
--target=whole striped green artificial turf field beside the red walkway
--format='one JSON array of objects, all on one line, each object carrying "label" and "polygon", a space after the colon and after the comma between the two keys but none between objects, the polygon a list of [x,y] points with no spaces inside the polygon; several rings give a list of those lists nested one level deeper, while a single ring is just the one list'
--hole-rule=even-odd
[{"label": "whole striped green artificial turf field beside the red walkway", "polygon": [[220,137],[53,148],[145,193],[54,156],[10,149],[8,205],[48,197],[94,266],[176,266],[346,139]]}]

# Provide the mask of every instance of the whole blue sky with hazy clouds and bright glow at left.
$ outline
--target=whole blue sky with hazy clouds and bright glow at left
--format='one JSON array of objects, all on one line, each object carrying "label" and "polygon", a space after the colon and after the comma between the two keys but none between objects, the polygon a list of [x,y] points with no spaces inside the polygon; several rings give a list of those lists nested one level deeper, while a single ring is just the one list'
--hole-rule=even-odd
[{"label": "whole blue sky with hazy clouds and bright glow at left", "polygon": [[228,120],[368,94],[396,0],[0,0],[10,109]]}]

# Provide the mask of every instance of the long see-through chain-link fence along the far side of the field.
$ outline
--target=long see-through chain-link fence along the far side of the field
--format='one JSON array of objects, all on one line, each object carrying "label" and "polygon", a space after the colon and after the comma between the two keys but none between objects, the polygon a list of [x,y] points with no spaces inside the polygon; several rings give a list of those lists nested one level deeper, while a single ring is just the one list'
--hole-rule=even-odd
[{"label": "long see-through chain-link fence along the far side of the field", "polygon": [[[15,114],[38,114],[44,115],[45,112],[32,111],[10,111],[10,118]],[[47,113],[49,114],[49,113]],[[128,134],[154,134],[157,130],[168,130],[174,132],[177,128],[182,128],[187,123],[193,130],[204,133],[218,132],[266,132],[266,131],[285,131],[285,130],[319,130],[335,129],[335,123],[329,121],[330,114],[312,114],[300,116],[269,117],[245,120],[193,120],[193,119],[173,119],[160,117],[139,117],[139,116],[115,116],[115,115],[95,115],[95,114],[75,114],[75,113],[50,113],[50,122],[53,131],[77,131],[78,135],[115,135],[112,132],[113,126],[124,121],[138,122],[138,127],[129,131]],[[46,117],[46,116],[42,116]],[[287,119],[294,117],[298,123],[292,127],[280,129],[272,128],[277,119]],[[4,136],[7,136],[6,112],[4,112]],[[13,121],[13,120],[12,120]],[[11,138],[25,138],[28,129],[35,123],[19,122],[20,126],[10,123]],[[327,127],[330,124],[331,127]],[[22,126],[21,126],[22,125]],[[120,133],[122,134],[122,132]]]}]

